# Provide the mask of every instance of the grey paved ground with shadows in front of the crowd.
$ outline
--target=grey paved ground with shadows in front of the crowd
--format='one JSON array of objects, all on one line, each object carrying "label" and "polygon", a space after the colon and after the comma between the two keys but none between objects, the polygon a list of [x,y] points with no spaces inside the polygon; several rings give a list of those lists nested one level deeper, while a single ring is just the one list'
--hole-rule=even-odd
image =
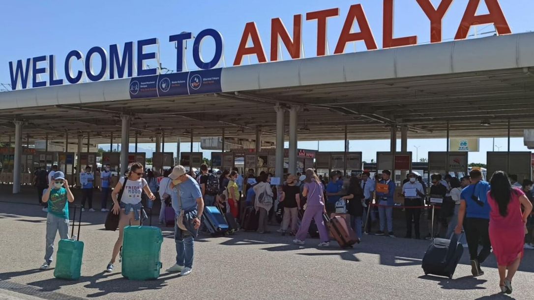
[{"label": "grey paved ground with shadows in front of the crowd", "polygon": [[[8,196],[0,193],[0,201],[17,198]],[[19,197],[20,202],[31,202]],[[105,213],[100,212],[84,213],[82,278],[58,280],[53,270],[37,270],[44,256],[45,216],[36,205],[0,202],[0,299],[164,300],[184,294],[200,299],[512,299],[496,294],[493,256],[483,264],[486,275],[480,278],[470,276],[467,252],[455,279],[430,277],[420,266],[428,241],[378,236],[365,236],[351,250],[340,249],[335,242],[326,249],[316,248],[316,239],[299,247],[290,244],[292,238],[278,234],[205,237],[195,243],[190,276],[162,271],[158,280],[129,281],[122,278],[120,265],[114,273],[103,272],[117,233],[103,230]],[[163,234],[161,260],[168,267],[176,255],[172,229],[163,228]],[[5,290],[10,285],[15,287]],[[514,279],[513,297],[534,297],[533,285],[534,252],[529,251]]]}]

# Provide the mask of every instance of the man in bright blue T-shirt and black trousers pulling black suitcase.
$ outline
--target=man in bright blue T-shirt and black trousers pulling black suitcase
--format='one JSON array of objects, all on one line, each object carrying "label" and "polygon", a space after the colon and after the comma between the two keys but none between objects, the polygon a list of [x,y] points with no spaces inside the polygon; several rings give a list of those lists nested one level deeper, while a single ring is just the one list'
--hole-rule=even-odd
[{"label": "man in bright blue T-shirt and black trousers pulling black suitcase", "polygon": [[[490,184],[482,180],[482,173],[478,169],[469,172],[471,183],[460,195],[460,209],[458,212],[458,224],[454,232],[460,234],[465,218],[465,232],[469,256],[471,259],[471,273],[473,276],[483,275],[480,268],[486,258],[491,254],[491,241],[489,235],[490,205],[487,193]],[[478,241],[482,240],[482,250],[478,253]]]}]

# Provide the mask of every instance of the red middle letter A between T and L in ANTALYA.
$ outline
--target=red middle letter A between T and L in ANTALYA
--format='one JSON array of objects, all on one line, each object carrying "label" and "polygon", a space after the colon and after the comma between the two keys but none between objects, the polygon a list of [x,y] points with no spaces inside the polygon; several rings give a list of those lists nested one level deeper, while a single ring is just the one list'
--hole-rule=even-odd
[{"label": "red middle letter A between T and L in ANTALYA", "polygon": [[[358,21],[358,26],[360,27],[359,33],[352,33],[352,25],[354,24],[354,19]],[[339,40],[337,40],[337,45],[335,47],[334,54],[341,54],[345,51],[345,46],[349,42],[355,42],[358,40],[363,40],[367,50],[375,50],[378,47],[374,40],[373,32],[369,27],[369,22],[365,16],[364,9],[362,4],[351,5],[349,13],[347,14],[347,19],[341,29],[341,35]]]}]

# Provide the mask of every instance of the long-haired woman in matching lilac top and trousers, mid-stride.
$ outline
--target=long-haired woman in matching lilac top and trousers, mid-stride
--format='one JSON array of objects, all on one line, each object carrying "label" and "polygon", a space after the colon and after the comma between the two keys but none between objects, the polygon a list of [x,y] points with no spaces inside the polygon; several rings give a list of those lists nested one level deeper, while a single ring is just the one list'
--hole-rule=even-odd
[{"label": "long-haired woman in matching lilac top and trousers, mid-stride", "polygon": [[319,247],[328,247],[330,245],[330,239],[323,221],[323,214],[326,214],[325,201],[323,199],[323,184],[321,184],[313,169],[306,170],[302,195],[308,197],[308,200],[306,202],[304,216],[302,217],[301,228],[297,232],[293,242],[299,245],[304,244],[304,240],[308,236],[311,219],[313,218],[319,230],[319,238],[321,240]]}]

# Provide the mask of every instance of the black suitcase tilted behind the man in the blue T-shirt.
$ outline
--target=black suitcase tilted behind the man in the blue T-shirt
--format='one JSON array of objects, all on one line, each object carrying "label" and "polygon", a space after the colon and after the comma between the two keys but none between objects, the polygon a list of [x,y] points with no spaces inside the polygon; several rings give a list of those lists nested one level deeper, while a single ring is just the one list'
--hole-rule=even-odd
[{"label": "black suitcase tilted behind the man in the blue T-shirt", "polygon": [[456,266],[464,254],[464,247],[458,242],[458,236],[450,240],[434,239],[423,256],[422,268],[426,275],[433,274],[452,279]]}]

